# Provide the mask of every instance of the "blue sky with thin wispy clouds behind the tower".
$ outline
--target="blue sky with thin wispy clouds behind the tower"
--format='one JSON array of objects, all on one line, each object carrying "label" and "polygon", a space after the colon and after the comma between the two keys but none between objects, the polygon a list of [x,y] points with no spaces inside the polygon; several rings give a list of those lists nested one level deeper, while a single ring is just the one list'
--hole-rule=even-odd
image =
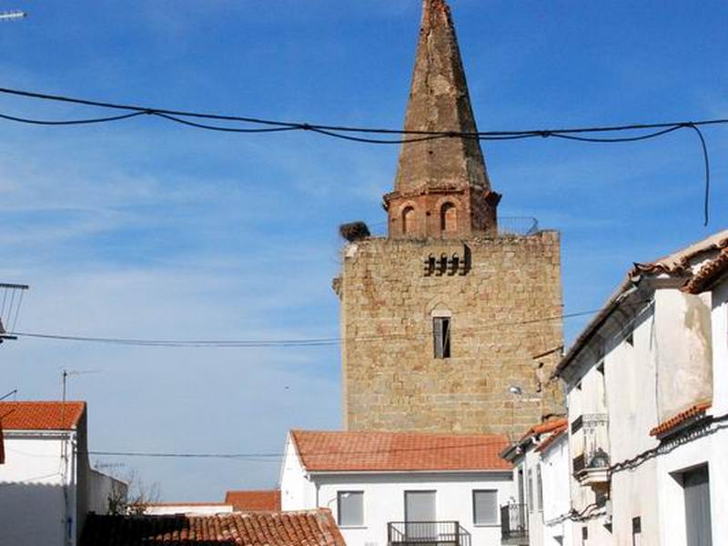
[{"label": "blue sky with thin wispy clouds behind the tower", "polygon": [[[452,0],[481,130],[728,116],[723,2]],[[0,1],[0,86],[239,115],[399,127],[419,0]],[[91,108],[0,96],[5,114]],[[726,227],[728,127],[703,164],[681,131],[639,144],[486,143],[503,216],[561,230],[565,310],[632,261]],[[339,223],[384,221],[397,147],[230,136],[157,119],[0,124],[0,278],[32,285],[19,329],[134,338],[338,335]],[[566,323],[568,339],[584,319]],[[89,403],[91,448],[280,451],[340,426],[339,350],[150,349],[23,339],[5,390]],[[123,460],[167,501],[274,486],[278,464]]]}]

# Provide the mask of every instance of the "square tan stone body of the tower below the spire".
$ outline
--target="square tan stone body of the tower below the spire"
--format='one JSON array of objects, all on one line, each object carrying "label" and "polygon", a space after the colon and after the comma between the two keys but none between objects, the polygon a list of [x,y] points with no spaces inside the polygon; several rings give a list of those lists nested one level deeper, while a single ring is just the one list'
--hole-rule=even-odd
[{"label": "square tan stone body of the tower below the spire", "polygon": [[[428,271],[442,255],[460,267]],[[561,319],[539,320],[561,317],[560,268],[553,231],[349,244],[335,281],[346,428],[510,433],[561,413],[548,383],[560,352],[534,359],[563,342]],[[449,359],[434,358],[432,317],[442,313]],[[514,397],[511,385],[526,393]]]}]

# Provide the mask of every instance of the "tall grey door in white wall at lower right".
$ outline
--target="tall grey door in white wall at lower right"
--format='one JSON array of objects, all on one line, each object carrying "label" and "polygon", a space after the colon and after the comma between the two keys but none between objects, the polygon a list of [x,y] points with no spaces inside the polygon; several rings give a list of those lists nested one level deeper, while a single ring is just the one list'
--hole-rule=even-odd
[{"label": "tall grey door in white wall at lower right", "polygon": [[682,473],[685,497],[686,546],[711,546],[711,490],[708,466],[703,465]]}]

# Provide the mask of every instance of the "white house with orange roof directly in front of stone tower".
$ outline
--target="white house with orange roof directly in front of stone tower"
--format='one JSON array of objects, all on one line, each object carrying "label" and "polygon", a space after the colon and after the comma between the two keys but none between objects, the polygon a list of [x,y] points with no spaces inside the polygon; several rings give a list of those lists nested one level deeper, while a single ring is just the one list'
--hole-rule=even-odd
[{"label": "white house with orange roof directly in front of stone tower", "polygon": [[501,543],[514,494],[504,436],[403,432],[288,434],[284,511],[329,508],[349,546]]}]

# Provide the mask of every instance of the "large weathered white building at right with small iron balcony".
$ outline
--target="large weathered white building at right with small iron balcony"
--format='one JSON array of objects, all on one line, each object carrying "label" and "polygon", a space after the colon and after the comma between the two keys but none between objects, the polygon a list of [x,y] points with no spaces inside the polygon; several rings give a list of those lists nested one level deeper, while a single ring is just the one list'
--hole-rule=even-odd
[{"label": "large weathered white building at right with small iron balcony", "polygon": [[728,542],[728,231],[638,264],[562,359],[576,544]]}]

